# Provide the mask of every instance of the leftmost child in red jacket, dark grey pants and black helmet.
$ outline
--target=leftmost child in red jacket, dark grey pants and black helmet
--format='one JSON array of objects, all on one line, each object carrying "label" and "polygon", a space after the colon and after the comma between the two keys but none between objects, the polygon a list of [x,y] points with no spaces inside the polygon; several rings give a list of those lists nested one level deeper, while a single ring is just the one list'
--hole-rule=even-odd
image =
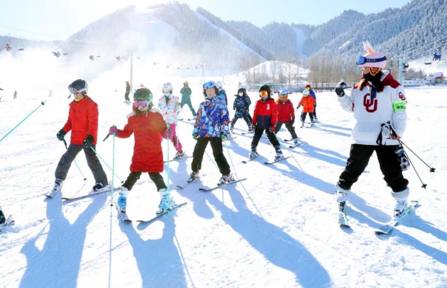
[{"label": "leftmost child in red jacket, dark grey pants and black helmet", "polygon": [[65,141],[65,135],[71,131],[70,145],[62,155],[58,167],[54,172],[54,190],[59,190],[63,181],[67,178],[68,170],[74,158],[81,150],[84,150],[88,167],[95,178],[93,190],[107,186],[107,176],[99,162],[96,152],[98,138],[98,104],[87,95],[87,82],[82,79],[73,81],[68,85],[68,90],[73,93],[74,100],[69,104],[68,119],[64,127],[57,133],[60,141]]}]

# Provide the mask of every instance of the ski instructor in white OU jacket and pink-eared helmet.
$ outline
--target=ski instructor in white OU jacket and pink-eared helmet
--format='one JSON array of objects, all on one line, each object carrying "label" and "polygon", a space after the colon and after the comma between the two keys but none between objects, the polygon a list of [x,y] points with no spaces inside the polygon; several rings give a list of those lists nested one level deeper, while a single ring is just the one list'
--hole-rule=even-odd
[{"label": "ski instructor in white OU jacket and pink-eared helmet", "polygon": [[[369,42],[363,43],[368,52],[357,59],[362,67],[363,77],[351,89],[351,95],[344,92],[346,83],[337,85],[336,93],[342,108],[353,112],[356,125],[352,129],[352,144],[345,170],[340,175],[337,187],[337,201],[341,210],[353,183],[356,183],[368,165],[369,158],[376,151],[380,170],[386,184],[392,189],[396,201],[394,216],[400,216],[408,207],[408,180],[402,175],[401,159],[396,150],[401,148],[399,139],[406,126],[406,97],[403,87],[393,76],[382,69],[386,66],[384,54],[375,52]],[[393,127],[395,133],[387,133],[383,124]]]}]

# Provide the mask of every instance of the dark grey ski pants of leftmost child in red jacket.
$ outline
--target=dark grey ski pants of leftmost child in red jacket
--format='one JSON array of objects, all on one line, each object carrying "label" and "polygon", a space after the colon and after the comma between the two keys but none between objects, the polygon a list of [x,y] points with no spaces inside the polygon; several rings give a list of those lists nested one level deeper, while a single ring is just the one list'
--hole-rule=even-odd
[{"label": "dark grey ski pants of leftmost child in red jacket", "polygon": [[[96,151],[96,145],[91,146]],[[108,184],[107,175],[105,175],[104,169],[99,162],[98,156],[90,148],[84,148],[82,145],[68,145],[67,151],[62,155],[61,160],[59,160],[58,167],[54,172],[54,176],[58,179],[65,180],[67,178],[68,170],[70,169],[71,163],[78,153],[84,150],[85,158],[87,159],[88,167],[95,178],[95,182],[101,182],[103,184]]]}]

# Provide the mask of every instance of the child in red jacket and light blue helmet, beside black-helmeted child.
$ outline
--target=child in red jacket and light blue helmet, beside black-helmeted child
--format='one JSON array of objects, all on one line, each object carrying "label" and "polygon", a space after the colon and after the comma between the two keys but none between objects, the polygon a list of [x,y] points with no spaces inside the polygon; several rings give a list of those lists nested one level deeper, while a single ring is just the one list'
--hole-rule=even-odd
[{"label": "child in red jacket and light blue helmet, beside black-helmeted child", "polygon": [[279,92],[280,99],[276,101],[276,106],[278,107],[278,121],[276,122],[275,133],[277,134],[283,124],[286,125],[287,130],[293,139],[293,144],[298,145],[298,136],[296,136],[295,127],[295,109],[293,108],[292,102],[288,99],[289,91],[286,89]]}]

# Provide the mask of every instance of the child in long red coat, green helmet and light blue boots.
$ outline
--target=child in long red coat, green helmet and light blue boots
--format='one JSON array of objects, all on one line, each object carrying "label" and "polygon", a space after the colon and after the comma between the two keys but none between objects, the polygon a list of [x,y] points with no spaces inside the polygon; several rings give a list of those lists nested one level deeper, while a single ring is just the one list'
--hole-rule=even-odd
[{"label": "child in long red coat, green helmet and light blue boots", "polygon": [[175,203],[166,191],[166,184],[160,173],[163,171],[163,152],[160,135],[163,138],[172,136],[171,129],[166,128],[166,122],[158,108],[153,108],[152,92],[147,88],[137,89],[134,93],[136,109],[127,116],[124,129],[110,127],[109,134],[118,138],[128,138],[134,134],[134,155],[132,156],[131,173],[120,188],[118,206],[121,213],[126,212],[127,196],[142,172],[148,172],[160,193],[161,201],[157,214],[171,209]]}]

